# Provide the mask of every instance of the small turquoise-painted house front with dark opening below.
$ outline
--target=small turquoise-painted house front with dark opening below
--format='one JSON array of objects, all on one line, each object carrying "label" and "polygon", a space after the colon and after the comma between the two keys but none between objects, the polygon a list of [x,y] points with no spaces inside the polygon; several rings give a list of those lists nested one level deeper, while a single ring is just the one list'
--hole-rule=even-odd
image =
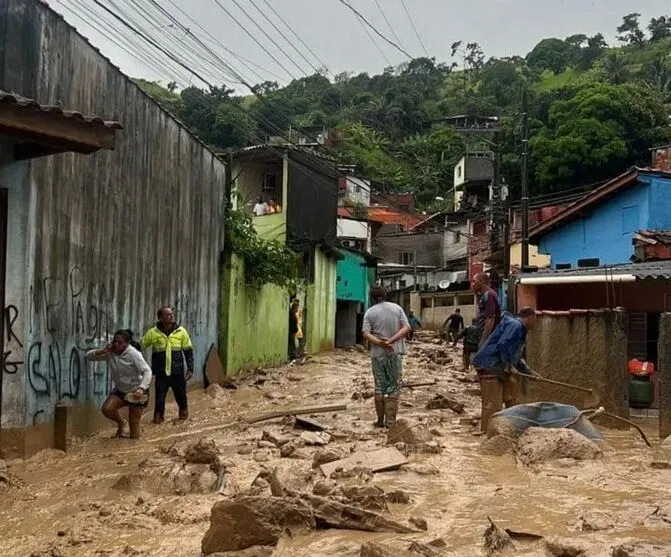
[{"label": "small turquoise-painted house front with dark opening below", "polygon": [[346,348],[359,340],[368,293],[377,277],[377,259],[364,251],[338,250],[342,259],[337,265],[335,342],[338,348]]}]

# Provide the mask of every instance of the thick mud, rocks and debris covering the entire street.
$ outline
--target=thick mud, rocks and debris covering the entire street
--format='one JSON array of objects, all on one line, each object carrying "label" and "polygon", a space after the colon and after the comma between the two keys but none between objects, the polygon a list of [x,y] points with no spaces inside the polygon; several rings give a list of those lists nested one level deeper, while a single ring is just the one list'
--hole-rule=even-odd
[{"label": "thick mud, rocks and debris covering the entire street", "polygon": [[[481,442],[477,378],[444,341],[416,339],[387,430],[373,428],[370,360],[352,350],[212,384],[191,420],[148,426],[142,443],[101,435],[11,463],[27,489],[0,463],[3,555],[671,555],[668,470],[652,467],[669,458],[633,433],[602,459],[572,429],[496,419]],[[39,528],[15,534],[15,516]]]}]

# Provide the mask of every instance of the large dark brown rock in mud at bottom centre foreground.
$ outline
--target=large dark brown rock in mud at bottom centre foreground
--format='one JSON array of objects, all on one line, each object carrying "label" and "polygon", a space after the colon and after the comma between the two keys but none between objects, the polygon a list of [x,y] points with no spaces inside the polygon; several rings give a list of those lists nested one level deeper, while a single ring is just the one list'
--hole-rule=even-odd
[{"label": "large dark brown rock in mud at bottom centre foreground", "polygon": [[315,528],[309,504],[292,497],[242,497],[221,501],[212,507],[210,528],[201,549],[205,555],[217,551],[239,551],[255,545],[277,543],[285,528]]}]

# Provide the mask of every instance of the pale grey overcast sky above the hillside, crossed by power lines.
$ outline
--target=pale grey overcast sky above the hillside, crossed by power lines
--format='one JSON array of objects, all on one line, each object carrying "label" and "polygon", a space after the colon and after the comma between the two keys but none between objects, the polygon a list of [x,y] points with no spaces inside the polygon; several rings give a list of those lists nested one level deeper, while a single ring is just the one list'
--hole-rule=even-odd
[{"label": "pale grey overcast sky above the hillside, crossed by power lines", "polygon": [[[170,0],[156,1],[187,23],[194,33],[204,37],[203,31],[192,22],[188,22],[174,5],[169,3]],[[301,73],[258,28],[254,27],[235,5],[235,1],[276,39],[299,66],[303,69],[308,67],[296,50],[292,50],[254,9],[252,2],[262,8],[292,39],[294,45],[310,59],[311,56],[306,49],[267,8],[265,0],[219,0],[219,2],[246,25],[248,31],[276,57],[276,61],[216,4],[216,0],[171,1],[185,10],[221,44],[262,66],[265,70],[258,68],[256,70],[264,79],[278,80],[277,77],[280,77],[279,81],[288,81],[290,79],[288,72],[281,66],[294,75],[300,76]],[[401,46],[412,56],[424,55],[424,49],[413,31],[402,0],[377,0],[377,4],[384,10],[391,24],[391,29],[378,9],[376,0],[348,1],[381,33],[395,42],[396,35],[400,39]],[[102,2],[111,5],[110,0]],[[383,56],[367,36],[358,18],[340,0],[268,0],[268,2],[326,64],[332,74],[342,71],[356,73],[366,71],[374,74],[381,72],[389,62],[396,65],[407,60],[405,55],[391,45],[376,38],[379,48],[384,53]],[[98,10],[93,0],[49,0],[49,3],[128,75],[161,80],[164,83],[170,80],[171,76],[166,70],[157,68],[155,63],[139,62],[120,48],[118,40],[109,36],[109,27],[107,27],[108,37],[105,37],[91,25],[94,18],[81,6],[84,4],[89,9]],[[149,5],[149,0],[114,0],[114,4],[129,10],[132,4]],[[641,12],[641,20],[645,25],[651,17],[671,14],[669,0],[405,0],[405,4],[426,50],[439,61],[447,61],[450,56],[450,45],[461,39],[464,42],[479,43],[487,57],[524,55],[545,37],[564,38],[576,33],[591,35],[601,32],[609,43],[614,43],[615,28],[622,16],[630,12]],[[77,15],[88,23],[84,23]],[[152,31],[146,22],[143,23],[145,29]],[[173,32],[172,29],[157,27],[152,31],[155,34]],[[216,48],[219,50],[219,47]],[[131,50],[136,53],[138,51],[138,49]],[[193,57],[189,59],[194,60]],[[248,68],[245,69],[239,61],[234,58],[228,59],[237,64],[248,80],[260,81],[259,76],[252,74]],[[314,66],[319,66],[319,63],[314,61]],[[206,77],[209,79],[220,81],[215,77],[216,74],[207,68],[203,71],[208,74]],[[273,77],[272,74],[277,77]],[[202,85],[196,79],[193,82]],[[236,88],[240,89],[239,86]]]}]

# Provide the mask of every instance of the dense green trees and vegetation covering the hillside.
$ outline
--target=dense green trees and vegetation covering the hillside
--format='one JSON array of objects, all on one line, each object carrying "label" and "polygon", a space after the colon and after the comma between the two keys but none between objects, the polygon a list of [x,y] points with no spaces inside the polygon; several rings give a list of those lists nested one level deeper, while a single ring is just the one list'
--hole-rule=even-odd
[{"label": "dense green trees and vegetation covering the hillside", "polygon": [[[338,130],[331,148],[388,191],[411,191],[428,207],[444,196],[465,149],[491,149],[441,125],[456,114],[502,122],[502,175],[519,190],[523,98],[529,106],[532,196],[608,179],[648,164],[648,149],[671,139],[671,17],[641,28],[639,14],[603,35],[540,41],[525,57],[489,58],[456,42],[449,63],[417,58],[380,75],[315,74],[284,87],[265,82],[236,96],[138,80],[218,149],[259,143],[290,127]],[[281,133],[280,133],[281,130]]]}]

